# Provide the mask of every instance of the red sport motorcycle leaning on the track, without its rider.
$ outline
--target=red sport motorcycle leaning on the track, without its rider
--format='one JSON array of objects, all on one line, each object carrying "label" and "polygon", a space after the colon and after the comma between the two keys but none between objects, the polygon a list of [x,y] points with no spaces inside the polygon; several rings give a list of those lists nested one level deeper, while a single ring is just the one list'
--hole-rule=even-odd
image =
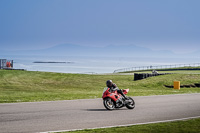
[{"label": "red sport motorcycle leaning on the track, without its rider", "polygon": [[[126,95],[129,89],[124,89],[122,92]],[[111,91],[110,88],[104,88],[103,91],[103,104],[107,110],[113,110],[115,108],[122,108],[126,106],[128,109],[135,108],[135,101],[131,97],[124,98],[116,91]]]}]

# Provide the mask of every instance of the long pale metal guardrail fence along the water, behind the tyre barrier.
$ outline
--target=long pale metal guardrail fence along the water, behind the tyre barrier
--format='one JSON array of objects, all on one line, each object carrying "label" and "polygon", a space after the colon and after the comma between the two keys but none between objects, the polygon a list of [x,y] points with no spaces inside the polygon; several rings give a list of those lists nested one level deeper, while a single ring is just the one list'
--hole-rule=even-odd
[{"label": "long pale metal guardrail fence along the water, behind the tyre barrier", "polygon": [[113,73],[119,72],[131,72],[131,71],[144,71],[144,70],[157,70],[157,69],[173,69],[179,67],[199,67],[200,63],[190,63],[190,64],[174,64],[174,65],[159,65],[159,66],[140,66],[140,67],[130,67],[117,69]]}]

